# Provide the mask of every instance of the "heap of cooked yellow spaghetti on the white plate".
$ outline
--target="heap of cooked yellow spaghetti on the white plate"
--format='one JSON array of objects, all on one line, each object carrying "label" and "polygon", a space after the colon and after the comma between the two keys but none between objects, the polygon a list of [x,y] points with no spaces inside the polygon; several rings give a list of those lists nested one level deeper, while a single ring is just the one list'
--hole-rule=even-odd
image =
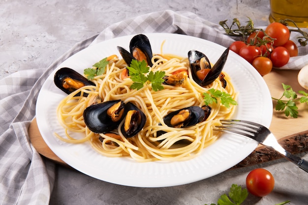
[{"label": "heap of cooked yellow spaghetti on the white plate", "polygon": [[[152,62],[152,70],[165,71],[167,76],[175,71],[186,70],[188,77],[185,85],[163,85],[164,89],[158,91],[152,90],[151,85],[145,85],[139,90],[131,89],[132,80],[123,77],[126,67],[124,60],[118,57],[110,59],[106,72],[92,80],[95,86],[80,88],[60,102],[57,116],[66,134],[56,136],[67,143],[89,142],[98,153],[108,157],[130,156],[140,162],[187,160],[214,143],[218,136],[213,132],[213,127],[220,124],[219,119],[232,116],[234,105],[226,108],[218,99],[217,103],[211,105],[212,112],[206,120],[186,128],[168,127],[163,117],[185,107],[203,106],[203,93],[210,88],[227,92],[236,99],[237,93],[228,74],[224,73],[226,88],[221,86],[219,79],[209,86],[201,87],[192,80],[187,58],[165,55],[161,51],[161,54],[153,56]],[[88,93],[88,96],[75,96],[78,92]],[[119,138],[106,133],[93,133],[83,120],[83,111],[92,104],[91,100],[95,96],[99,96],[104,102],[123,100],[124,103],[133,103],[146,115],[144,128],[136,136],[127,139],[120,130],[123,122],[116,130]],[[164,134],[158,135],[159,131]],[[75,132],[82,133],[83,138],[73,138],[72,133]]]}]

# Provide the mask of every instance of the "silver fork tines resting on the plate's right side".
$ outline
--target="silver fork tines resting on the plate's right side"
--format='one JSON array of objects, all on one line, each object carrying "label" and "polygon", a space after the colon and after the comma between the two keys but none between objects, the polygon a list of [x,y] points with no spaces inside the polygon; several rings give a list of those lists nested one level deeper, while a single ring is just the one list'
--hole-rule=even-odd
[{"label": "silver fork tines resting on the plate's right side", "polygon": [[259,124],[245,120],[221,119],[221,125],[216,126],[216,131],[223,131],[253,137],[259,131]]}]

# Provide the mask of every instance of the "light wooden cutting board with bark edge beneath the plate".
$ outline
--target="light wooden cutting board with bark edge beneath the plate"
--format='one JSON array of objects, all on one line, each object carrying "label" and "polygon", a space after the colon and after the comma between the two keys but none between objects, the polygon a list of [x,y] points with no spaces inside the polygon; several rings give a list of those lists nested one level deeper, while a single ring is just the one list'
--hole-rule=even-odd
[{"label": "light wooden cutting board with bark edge beneath the plate", "polygon": [[[303,90],[297,81],[298,70],[272,70],[264,76],[264,80],[269,87],[272,97],[280,98],[283,93],[281,83],[290,85],[298,93]],[[253,92],[253,90],[251,90]],[[273,102],[273,119],[270,130],[277,137],[279,143],[291,153],[301,153],[308,151],[308,105],[297,104],[299,107],[298,118],[285,117],[284,113],[275,110],[276,101]],[[54,160],[57,163],[66,165],[45,143],[39,133],[36,118],[29,127],[31,144],[41,155]],[[264,146],[258,146],[249,156],[234,168],[249,166],[282,157],[277,152]]]}]

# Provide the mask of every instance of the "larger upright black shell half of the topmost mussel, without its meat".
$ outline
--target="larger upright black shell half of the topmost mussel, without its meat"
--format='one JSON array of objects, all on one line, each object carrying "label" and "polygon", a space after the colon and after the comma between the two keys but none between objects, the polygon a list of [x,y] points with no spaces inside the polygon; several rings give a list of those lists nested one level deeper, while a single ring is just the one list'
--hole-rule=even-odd
[{"label": "larger upright black shell half of the topmost mussel, without its meat", "polygon": [[[149,66],[152,66],[152,48],[149,41],[149,38],[144,34],[138,34],[132,37],[129,43],[129,51],[133,55],[134,50],[138,48],[141,50],[141,52],[146,56],[147,63]],[[134,55],[133,55],[134,56]],[[137,59],[137,58],[135,58]],[[139,60],[139,59],[138,59]]]}]

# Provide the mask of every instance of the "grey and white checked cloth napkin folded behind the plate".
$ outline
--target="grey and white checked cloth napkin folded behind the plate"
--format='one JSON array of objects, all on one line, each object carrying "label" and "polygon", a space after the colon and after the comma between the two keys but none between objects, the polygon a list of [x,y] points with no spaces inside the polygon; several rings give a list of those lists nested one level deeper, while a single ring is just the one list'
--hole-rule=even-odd
[{"label": "grey and white checked cloth napkin folded behind the plate", "polygon": [[[18,71],[0,80],[0,205],[49,203],[54,164],[42,159],[31,145],[28,127],[35,117],[39,90],[50,73],[62,61],[88,46],[119,36],[153,32],[191,35],[225,47],[234,41],[219,25],[191,12],[165,10],[111,25],[99,35],[77,43],[48,68]],[[284,69],[302,68],[308,64],[307,54],[308,48],[300,48],[301,56],[292,59]]]}]

